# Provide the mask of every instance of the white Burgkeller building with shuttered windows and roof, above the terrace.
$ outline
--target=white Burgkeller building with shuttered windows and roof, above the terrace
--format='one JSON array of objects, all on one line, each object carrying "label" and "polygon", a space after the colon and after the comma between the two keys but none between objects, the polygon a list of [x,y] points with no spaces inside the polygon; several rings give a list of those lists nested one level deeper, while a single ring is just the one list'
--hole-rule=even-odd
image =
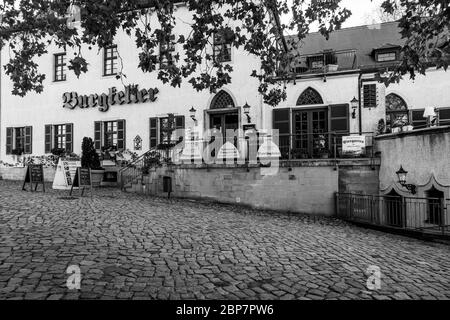
[{"label": "white Burgkeller building with shuttered windows and roof, above the terrace", "polygon": [[[177,7],[176,15],[183,21],[190,19],[184,6]],[[181,23],[174,30],[176,35],[188,32]],[[27,156],[48,155],[54,148],[80,154],[83,137],[93,138],[98,150],[114,146],[144,153],[163,142],[161,127],[169,113],[174,114],[177,129],[194,126],[192,107],[200,128],[243,129],[248,122],[243,106],[248,104],[256,129],[278,129],[283,157],[291,159],[316,157],[314,135],[319,133],[370,134],[380,119],[388,126],[407,120],[420,128],[426,125],[427,107],[439,109],[440,124],[450,124],[446,111],[450,110],[450,73],[431,68],[426,77],[405,79],[388,88],[376,78],[379,70],[399,59],[401,39],[395,23],[343,29],[329,41],[311,34],[286,84],[287,100],[276,108],[264,104],[258,81],[250,76],[259,69],[257,57],[234,47],[226,48],[225,57],[234,68],[232,83],[210,94],[195,91],[187,82],[173,88],[160,82],[156,72],[143,73],[129,36],[120,34],[115,45],[83,48],[89,71],[80,78],[65,66],[73,52],[49,48],[49,54],[36,61],[47,75],[41,94],[13,96],[13,85],[2,73],[0,160],[13,163],[17,149]],[[175,50],[181,52],[176,46]],[[1,55],[4,66],[8,52]],[[126,83],[116,79],[122,68]],[[138,90],[130,91],[129,85],[137,85]],[[353,98],[359,102],[356,109],[350,104]],[[138,138],[141,145],[136,144]],[[327,147],[333,152],[331,142]]]}]

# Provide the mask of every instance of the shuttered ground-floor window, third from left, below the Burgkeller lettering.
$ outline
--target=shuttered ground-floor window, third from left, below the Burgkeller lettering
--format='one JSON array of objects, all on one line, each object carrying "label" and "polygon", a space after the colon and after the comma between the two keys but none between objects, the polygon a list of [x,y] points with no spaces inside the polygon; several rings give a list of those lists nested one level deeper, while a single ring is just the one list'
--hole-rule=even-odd
[{"label": "shuttered ground-floor window, third from left, below the Burgkeller lettering", "polygon": [[94,124],[95,149],[125,150],[125,120],[96,121]]}]

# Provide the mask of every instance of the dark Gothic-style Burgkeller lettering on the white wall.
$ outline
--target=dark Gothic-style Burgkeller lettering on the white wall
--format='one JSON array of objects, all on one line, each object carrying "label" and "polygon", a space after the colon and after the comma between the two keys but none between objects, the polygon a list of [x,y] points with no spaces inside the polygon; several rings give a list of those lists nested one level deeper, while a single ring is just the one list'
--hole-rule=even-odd
[{"label": "dark Gothic-style Burgkeller lettering on the white wall", "polygon": [[63,94],[63,108],[81,109],[96,108],[101,112],[109,110],[110,106],[155,102],[159,89],[139,90],[137,85],[126,86],[125,90],[117,91],[116,87],[109,89],[109,92],[103,94],[80,95],[77,92],[66,92]]}]

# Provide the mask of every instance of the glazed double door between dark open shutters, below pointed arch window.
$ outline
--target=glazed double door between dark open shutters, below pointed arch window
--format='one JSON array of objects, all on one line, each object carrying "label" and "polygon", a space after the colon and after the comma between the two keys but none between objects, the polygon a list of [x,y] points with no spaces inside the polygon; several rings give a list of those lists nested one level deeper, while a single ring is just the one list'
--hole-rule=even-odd
[{"label": "glazed double door between dark open shutters, below pointed arch window", "polygon": [[294,111],[293,122],[296,154],[312,158],[329,151],[328,109]]}]

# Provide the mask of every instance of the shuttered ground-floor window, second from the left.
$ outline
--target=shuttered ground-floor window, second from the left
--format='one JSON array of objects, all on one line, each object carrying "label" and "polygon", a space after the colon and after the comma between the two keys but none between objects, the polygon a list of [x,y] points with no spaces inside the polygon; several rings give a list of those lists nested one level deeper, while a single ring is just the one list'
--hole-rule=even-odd
[{"label": "shuttered ground-floor window, second from the left", "polygon": [[48,124],[45,126],[45,153],[53,149],[64,149],[73,152],[73,124]]}]

